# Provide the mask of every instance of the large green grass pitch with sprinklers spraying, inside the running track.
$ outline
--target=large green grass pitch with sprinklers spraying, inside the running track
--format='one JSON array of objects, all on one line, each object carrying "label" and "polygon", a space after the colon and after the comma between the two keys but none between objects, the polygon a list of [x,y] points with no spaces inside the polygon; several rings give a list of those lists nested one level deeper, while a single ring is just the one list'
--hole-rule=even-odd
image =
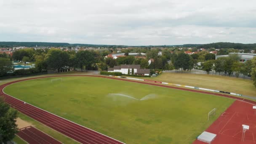
[{"label": "large green grass pitch with sprinklers spraying, inside the running track", "polygon": [[[16,83],[4,91],[128,144],[190,144],[234,101],[98,77],[51,79]],[[136,100],[144,96],[152,99]],[[213,108],[216,115],[207,121]]]}]

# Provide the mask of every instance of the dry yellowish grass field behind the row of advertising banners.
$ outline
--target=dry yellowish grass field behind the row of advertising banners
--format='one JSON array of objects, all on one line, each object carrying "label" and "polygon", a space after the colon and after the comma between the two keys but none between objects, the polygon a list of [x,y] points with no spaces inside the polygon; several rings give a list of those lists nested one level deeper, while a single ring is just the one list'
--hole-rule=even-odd
[{"label": "dry yellowish grass field behind the row of advertising banners", "polygon": [[209,88],[219,91],[229,91],[247,96],[256,96],[256,88],[254,87],[252,80],[236,77],[187,73],[162,73],[157,77],[144,77],[143,79]]}]

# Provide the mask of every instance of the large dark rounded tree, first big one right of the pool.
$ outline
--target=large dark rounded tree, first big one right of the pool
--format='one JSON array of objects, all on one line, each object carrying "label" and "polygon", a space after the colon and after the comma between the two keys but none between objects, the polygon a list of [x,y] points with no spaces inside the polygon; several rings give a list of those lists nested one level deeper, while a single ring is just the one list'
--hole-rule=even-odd
[{"label": "large dark rounded tree, first big one right of the pool", "polygon": [[67,52],[53,49],[48,51],[48,54],[48,69],[56,70],[68,65],[69,55],[67,54]]}]

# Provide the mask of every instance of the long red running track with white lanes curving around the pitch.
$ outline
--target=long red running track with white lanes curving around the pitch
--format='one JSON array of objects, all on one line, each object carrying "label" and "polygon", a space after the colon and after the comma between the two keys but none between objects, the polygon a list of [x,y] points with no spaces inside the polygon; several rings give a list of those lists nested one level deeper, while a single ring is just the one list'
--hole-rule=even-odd
[{"label": "long red running track with white lanes curving around the pitch", "polygon": [[243,104],[254,104],[256,105],[255,101],[246,100],[243,98],[235,97],[235,96],[229,96],[226,94],[221,93],[212,93],[212,92],[206,92],[206,91],[198,91],[198,90],[192,90],[187,88],[179,88],[179,87],[173,87],[169,85],[159,85],[155,83],[146,83],[141,81],[135,81],[135,80],[127,80],[127,79],[121,79],[121,78],[115,78],[115,77],[107,77],[107,76],[96,76],[96,75],[58,75],[58,76],[45,76],[45,77],[33,77],[23,80],[17,80],[10,83],[5,83],[3,85],[0,85],[0,94],[5,97],[5,101],[8,104],[11,104],[12,107],[15,109],[18,109],[21,113],[28,115],[29,117],[32,117],[33,119],[55,129],[56,131],[59,131],[60,133],[63,133],[66,136],[71,137],[72,139],[75,139],[76,141],[79,141],[84,144],[124,144],[123,142],[117,141],[115,139],[112,139],[108,136],[105,136],[101,133],[98,133],[96,131],[93,131],[89,128],[85,128],[82,125],[78,125],[76,123],[73,123],[69,120],[66,120],[62,117],[59,117],[57,115],[54,115],[50,112],[47,112],[43,109],[37,108],[31,104],[24,104],[24,101],[21,101],[19,99],[16,99],[8,94],[5,94],[3,92],[3,89],[11,85],[13,83],[18,83],[25,80],[33,80],[38,78],[46,78],[46,77],[70,77],[70,76],[82,76],[82,77],[102,77],[102,78],[109,78],[109,79],[115,79],[115,80],[123,80],[133,83],[141,83],[141,84],[147,84],[147,85],[155,85],[165,88],[173,88],[183,91],[192,91],[197,93],[205,93],[205,94],[211,94],[215,96],[222,96],[227,97],[231,99],[236,99],[238,101],[243,101]]}]

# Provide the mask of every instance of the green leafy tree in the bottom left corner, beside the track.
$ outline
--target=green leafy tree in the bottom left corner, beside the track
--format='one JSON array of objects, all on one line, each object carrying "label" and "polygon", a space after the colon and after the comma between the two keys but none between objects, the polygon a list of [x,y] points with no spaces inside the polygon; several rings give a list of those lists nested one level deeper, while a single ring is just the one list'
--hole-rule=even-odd
[{"label": "green leafy tree in the bottom left corner, beside the track", "polygon": [[18,133],[16,119],[18,112],[11,109],[0,96],[0,144],[6,144],[11,141],[15,134]]}]

